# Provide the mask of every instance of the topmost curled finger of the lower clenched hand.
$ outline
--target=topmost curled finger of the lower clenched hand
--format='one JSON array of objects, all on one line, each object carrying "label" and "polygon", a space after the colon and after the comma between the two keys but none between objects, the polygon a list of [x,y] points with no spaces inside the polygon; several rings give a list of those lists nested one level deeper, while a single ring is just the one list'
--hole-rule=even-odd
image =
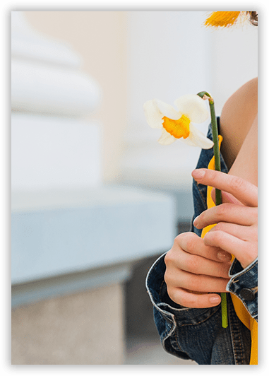
[{"label": "topmost curled finger of the lower clenched hand", "polygon": [[[203,239],[198,237],[195,233],[182,233],[175,239],[175,245],[184,249],[185,252],[196,254],[197,256],[204,257],[217,262],[229,261],[231,258],[227,252],[224,252],[219,247],[211,247],[205,245]],[[226,258],[225,258],[226,256]]]}]

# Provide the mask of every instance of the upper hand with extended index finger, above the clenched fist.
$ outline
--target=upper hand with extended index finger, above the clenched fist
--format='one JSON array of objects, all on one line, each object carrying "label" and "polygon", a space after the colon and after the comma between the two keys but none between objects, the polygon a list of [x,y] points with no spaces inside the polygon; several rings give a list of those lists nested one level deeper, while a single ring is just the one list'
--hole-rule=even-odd
[{"label": "upper hand with extended index finger, above the clenched fist", "polygon": [[217,223],[203,238],[204,244],[234,254],[245,269],[258,257],[258,188],[241,177],[214,170],[202,168],[192,175],[199,184],[221,189],[223,202],[203,211],[193,225],[201,229]]}]

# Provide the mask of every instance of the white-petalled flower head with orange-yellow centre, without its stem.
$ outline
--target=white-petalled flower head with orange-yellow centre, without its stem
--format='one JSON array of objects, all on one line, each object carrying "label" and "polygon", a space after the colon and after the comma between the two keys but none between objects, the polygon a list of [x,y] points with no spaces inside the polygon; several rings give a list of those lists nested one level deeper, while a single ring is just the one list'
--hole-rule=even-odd
[{"label": "white-petalled flower head with orange-yellow centre, without its stem", "polygon": [[144,104],[145,118],[152,128],[162,129],[158,140],[162,145],[169,145],[181,139],[191,146],[203,149],[212,148],[214,143],[193,123],[203,123],[209,117],[205,101],[198,95],[183,95],[174,101],[177,110],[172,105],[161,100],[148,100]]}]

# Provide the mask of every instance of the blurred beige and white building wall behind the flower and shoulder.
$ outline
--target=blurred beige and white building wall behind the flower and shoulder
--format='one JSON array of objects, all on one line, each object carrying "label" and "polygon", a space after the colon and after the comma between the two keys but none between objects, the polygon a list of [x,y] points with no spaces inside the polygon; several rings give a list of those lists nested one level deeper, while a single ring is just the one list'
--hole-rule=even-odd
[{"label": "blurred beige and white building wall behind the flower and shoulder", "polygon": [[119,177],[126,136],[148,127],[145,100],[172,103],[193,90],[211,90],[220,114],[229,95],[258,73],[257,28],[205,30],[206,11],[24,13],[37,30],[71,43],[83,58],[83,70],[103,89],[102,104],[92,117],[104,127],[106,181]]}]

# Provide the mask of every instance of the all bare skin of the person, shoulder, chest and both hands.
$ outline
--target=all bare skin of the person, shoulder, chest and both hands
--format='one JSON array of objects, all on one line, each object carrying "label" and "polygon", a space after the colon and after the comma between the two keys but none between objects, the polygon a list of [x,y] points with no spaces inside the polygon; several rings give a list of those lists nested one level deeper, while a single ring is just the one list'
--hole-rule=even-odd
[{"label": "all bare skin of the person, shoulder, chest and both hands", "polygon": [[243,268],[258,256],[257,86],[256,78],[246,83],[222,110],[222,154],[229,174],[207,169],[192,172],[198,183],[222,190],[222,205],[195,219],[196,228],[217,223],[204,239],[181,234],[165,256],[167,293],[184,307],[218,305],[220,296],[214,293],[226,291],[231,255]]}]

